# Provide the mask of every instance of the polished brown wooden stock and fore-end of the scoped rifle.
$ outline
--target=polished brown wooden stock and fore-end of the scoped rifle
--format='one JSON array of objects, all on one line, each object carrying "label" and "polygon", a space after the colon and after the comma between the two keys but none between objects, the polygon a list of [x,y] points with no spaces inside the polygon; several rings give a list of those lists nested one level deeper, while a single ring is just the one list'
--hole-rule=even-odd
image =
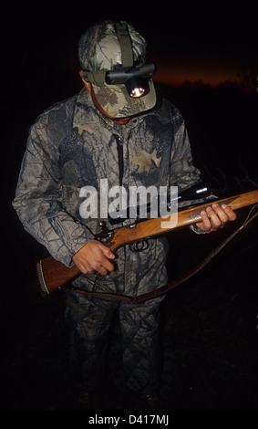
[{"label": "polished brown wooden stock and fore-end of the scoped rifle", "polygon": [[[213,203],[219,205],[227,204],[232,210],[237,210],[258,203],[258,190],[186,208],[178,214],[170,214],[167,219],[164,217],[157,217],[132,225],[119,227],[108,232],[108,239],[104,241],[103,244],[108,246],[114,253],[119,247],[129,243],[139,242],[152,236],[163,235],[164,233],[168,233],[182,226],[196,224],[201,221],[201,211],[205,210]],[[171,216],[177,216],[177,222],[172,227],[170,222]],[[166,226],[166,223],[168,226]],[[76,266],[67,267],[60,261],[57,261],[53,256],[48,256],[36,263],[36,274],[41,296],[46,297],[57,288],[66,286],[82,273]]]}]

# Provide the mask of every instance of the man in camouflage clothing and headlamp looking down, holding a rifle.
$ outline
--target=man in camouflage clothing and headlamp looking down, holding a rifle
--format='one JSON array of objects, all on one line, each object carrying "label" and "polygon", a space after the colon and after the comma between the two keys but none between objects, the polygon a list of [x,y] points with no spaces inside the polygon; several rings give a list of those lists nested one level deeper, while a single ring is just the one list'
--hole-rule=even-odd
[{"label": "man in camouflage clothing and headlamp looking down, holding a rifle", "polygon": [[[150,239],[142,252],[123,246],[113,255],[95,239],[99,219],[80,214],[84,186],[99,193],[100,180],[106,178],[108,188],[119,185],[129,192],[129,186],[173,185],[181,190],[201,182],[180,112],[165,99],[158,107],[146,50],[143,37],[127,23],[90,26],[78,46],[84,88],[46,110],[30,130],[14,207],[26,230],[52,256],[67,266],[76,264],[82,273],[74,282],[77,288],[136,296],[167,282],[166,239]],[[129,72],[131,82],[140,78],[142,88],[136,94],[140,97],[129,94],[125,79]],[[197,224],[201,233],[215,231],[236,217],[228,206],[216,204],[201,216]],[[125,384],[142,400],[155,403],[163,298],[128,304],[67,291],[72,379],[85,407],[105,376],[115,309]]]}]

